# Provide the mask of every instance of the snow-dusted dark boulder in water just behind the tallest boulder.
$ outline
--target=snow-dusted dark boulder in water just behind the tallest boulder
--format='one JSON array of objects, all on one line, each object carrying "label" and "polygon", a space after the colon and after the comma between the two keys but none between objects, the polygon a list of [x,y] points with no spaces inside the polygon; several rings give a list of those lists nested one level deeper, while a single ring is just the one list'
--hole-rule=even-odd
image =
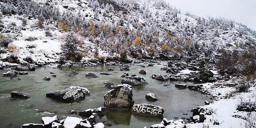
[{"label": "snow-dusted dark boulder in water just behind the tallest boulder", "polygon": [[137,86],[137,85],[145,85],[148,84],[143,77],[130,77],[126,76],[125,78],[122,79],[122,84],[128,84],[131,86]]}]

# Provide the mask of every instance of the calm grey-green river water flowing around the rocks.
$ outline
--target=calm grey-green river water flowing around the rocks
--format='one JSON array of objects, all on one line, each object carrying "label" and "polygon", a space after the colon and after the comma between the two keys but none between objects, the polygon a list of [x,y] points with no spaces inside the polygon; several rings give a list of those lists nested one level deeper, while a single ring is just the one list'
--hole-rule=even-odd
[{"label": "calm grey-green river water flowing around the rocks", "polygon": [[[142,76],[149,83],[145,86],[133,86],[134,104],[148,103],[160,106],[164,109],[163,117],[167,120],[178,117],[189,118],[192,116],[190,110],[198,105],[204,105],[205,100],[210,100],[209,95],[203,95],[199,92],[189,89],[180,90],[175,88],[175,84],[193,84],[191,82],[171,82],[158,81],[151,78],[155,74],[168,74],[161,71],[160,68],[166,65],[166,62],[161,62],[161,65],[152,67],[140,67],[140,64],[132,64],[130,71],[120,71],[119,66],[89,66],[87,68],[64,68],[45,66],[29,71],[28,75],[18,75],[14,79],[9,77],[0,77],[0,126],[1,128],[19,128],[27,123],[41,123],[42,117],[58,116],[60,120],[67,116],[79,117],[78,114],[67,114],[69,110],[84,111],[89,108],[98,108],[104,106],[104,95],[109,89],[104,87],[105,82],[114,82],[116,85],[121,84],[121,75],[125,72]],[[147,64],[144,64],[147,65]],[[113,68],[114,71],[108,71],[108,68]],[[145,69],[147,75],[140,75],[138,72]],[[76,70],[79,74],[70,74],[71,70]],[[5,73],[7,70],[0,70],[0,73]],[[57,77],[51,77],[54,72]],[[86,78],[85,74],[94,72],[99,78]],[[101,75],[100,72],[107,72],[112,75]],[[43,78],[49,76],[50,81],[44,81]],[[18,80],[20,78],[22,80]],[[163,86],[168,82],[170,86]],[[46,97],[46,93],[64,89],[67,86],[80,86],[87,88],[91,95],[85,100],[78,103],[65,103],[62,101],[53,100]],[[29,99],[12,98],[10,93],[17,91],[30,96]],[[149,102],[145,99],[146,94],[153,93],[159,97],[155,102]],[[51,110],[56,113],[43,112],[38,113],[37,110]],[[184,115],[185,114],[185,115]],[[188,114],[188,115],[186,115]],[[174,119],[175,120],[175,119]],[[98,121],[104,124],[112,124],[111,128],[150,128],[151,125],[159,124],[162,117],[152,118],[130,114],[129,112],[110,111]],[[185,120],[187,122],[187,120]],[[105,125],[105,127],[107,127]]]}]

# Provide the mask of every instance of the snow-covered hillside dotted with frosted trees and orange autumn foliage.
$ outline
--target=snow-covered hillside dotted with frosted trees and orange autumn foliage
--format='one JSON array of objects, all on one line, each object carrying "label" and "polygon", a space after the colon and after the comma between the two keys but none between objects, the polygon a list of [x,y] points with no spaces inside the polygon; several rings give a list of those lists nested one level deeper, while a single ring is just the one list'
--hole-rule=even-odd
[{"label": "snow-covered hillside dotted with frosted trees and orange autumn foliage", "polygon": [[[256,32],[234,21],[183,14],[162,0],[1,0],[0,30],[21,64],[58,63],[67,32],[79,40],[79,60],[127,56],[214,58],[220,49],[255,49]],[[31,47],[30,47],[31,46]],[[1,60],[10,53],[1,48]],[[27,59],[26,59],[27,58]]]}]

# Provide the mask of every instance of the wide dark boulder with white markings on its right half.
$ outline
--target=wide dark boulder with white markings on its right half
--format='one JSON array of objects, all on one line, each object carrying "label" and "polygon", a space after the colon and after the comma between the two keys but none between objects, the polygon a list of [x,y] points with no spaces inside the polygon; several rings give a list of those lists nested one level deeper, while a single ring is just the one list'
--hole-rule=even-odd
[{"label": "wide dark boulder with white markings on its right half", "polygon": [[63,90],[49,92],[46,96],[65,102],[78,102],[85,96],[90,96],[90,91],[83,87],[70,86]]}]

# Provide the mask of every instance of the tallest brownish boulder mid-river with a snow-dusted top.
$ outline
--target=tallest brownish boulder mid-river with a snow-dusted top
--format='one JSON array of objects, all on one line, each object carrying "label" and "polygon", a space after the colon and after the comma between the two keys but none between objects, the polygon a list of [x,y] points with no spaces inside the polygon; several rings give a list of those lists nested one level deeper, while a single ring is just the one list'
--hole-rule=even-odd
[{"label": "tallest brownish boulder mid-river with a snow-dusted top", "polygon": [[104,99],[104,107],[107,109],[127,111],[134,104],[132,86],[128,84],[118,85],[115,89],[107,92]]}]

